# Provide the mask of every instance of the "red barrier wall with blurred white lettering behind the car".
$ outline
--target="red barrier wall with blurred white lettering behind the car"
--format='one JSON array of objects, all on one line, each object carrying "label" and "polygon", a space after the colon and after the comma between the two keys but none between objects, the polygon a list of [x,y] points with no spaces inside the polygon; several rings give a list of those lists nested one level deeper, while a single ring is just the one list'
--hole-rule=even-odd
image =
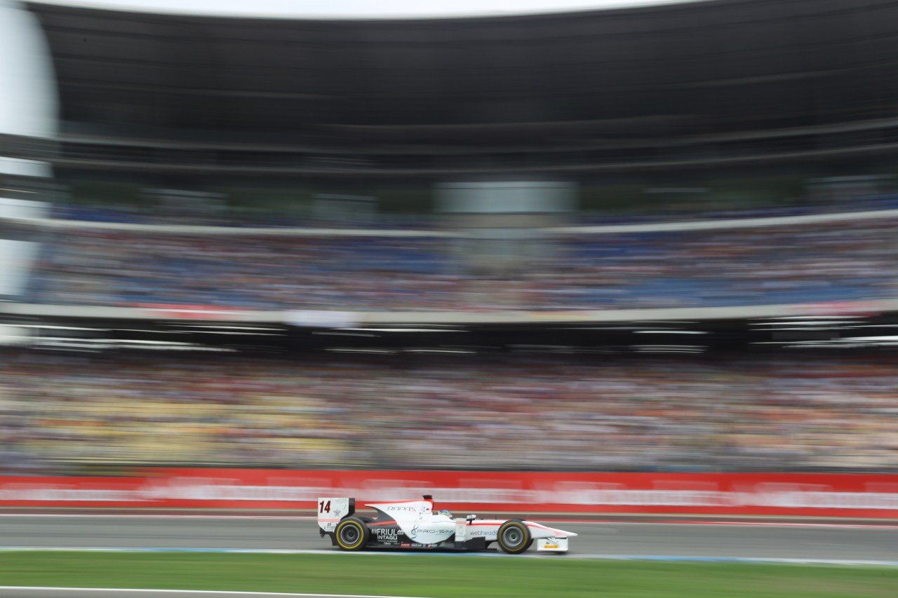
[{"label": "red barrier wall with blurred white lettering behind the car", "polygon": [[127,478],[0,476],[0,506],[311,510],[318,497],[432,494],[471,513],[898,517],[898,475],[154,469]]}]

